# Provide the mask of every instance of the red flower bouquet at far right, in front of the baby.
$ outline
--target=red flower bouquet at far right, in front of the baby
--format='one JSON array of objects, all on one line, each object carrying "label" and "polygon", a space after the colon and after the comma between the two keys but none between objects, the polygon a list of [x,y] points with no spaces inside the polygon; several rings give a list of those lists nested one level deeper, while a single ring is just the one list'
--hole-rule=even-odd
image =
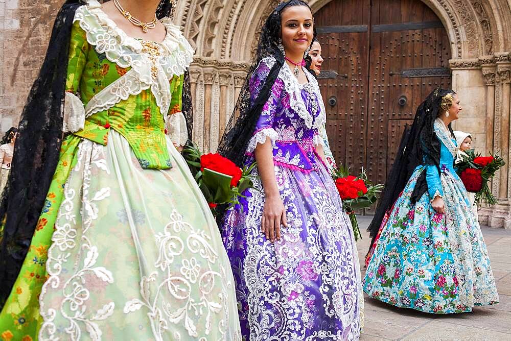
[{"label": "red flower bouquet at far right, in front of the baby", "polygon": [[481,206],[483,201],[486,205],[495,205],[497,199],[489,183],[499,168],[505,165],[504,159],[498,155],[476,155],[474,150],[463,152],[460,156],[461,159],[456,160],[456,172],[467,191],[476,193],[476,205]]}]

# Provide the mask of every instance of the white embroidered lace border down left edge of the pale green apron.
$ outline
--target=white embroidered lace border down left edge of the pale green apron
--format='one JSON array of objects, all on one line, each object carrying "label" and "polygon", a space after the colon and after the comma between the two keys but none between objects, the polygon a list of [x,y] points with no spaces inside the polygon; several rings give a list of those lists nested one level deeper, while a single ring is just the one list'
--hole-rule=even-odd
[{"label": "white embroidered lace border down left edge of the pale green apron", "polygon": [[[110,301],[102,309],[96,311],[92,318],[87,319],[86,317],[90,313],[90,310],[87,309],[90,291],[83,285],[83,276],[94,274],[102,282],[108,284],[114,282],[112,273],[105,267],[96,264],[99,256],[98,248],[92,245],[86,237],[87,230],[98,219],[98,203],[110,197],[110,187],[103,187],[94,193],[89,192],[90,182],[94,174],[98,174],[100,171],[104,171],[106,174],[110,173],[106,162],[104,162],[103,149],[95,147],[97,147],[97,144],[89,140],[79,146],[78,160],[73,172],[83,172],[82,190],[77,192],[75,188],[72,188],[73,186],[70,185],[72,176],[67,179],[64,187],[64,200],[60,205],[55,222],[52,245],[48,249],[46,270],[50,277],[44,282],[39,296],[40,314],[44,320],[39,330],[40,340],[58,339],[56,335],[58,327],[54,322],[57,314],[61,314],[63,319],[69,323],[65,332],[70,339],[78,340],[81,338],[82,329],[79,327],[79,323],[84,323],[89,338],[99,341],[101,340],[102,331],[96,321],[109,318],[115,308],[114,302]],[[75,215],[77,197],[81,197],[81,204],[84,207],[78,225]],[[77,226],[80,226],[80,231]],[[77,245],[80,246],[86,257],[83,258],[83,263],[75,264],[74,275],[64,282],[61,278],[62,269],[67,265],[68,257],[71,255],[71,253],[66,252],[74,249]],[[64,253],[64,256],[62,256],[62,253]],[[59,255],[55,257],[55,254]],[[62,293],[62,303],[59,311],[55,310],[53,306],[45,306],[46,295],[49,291],[55,290],[61,290]]]}]

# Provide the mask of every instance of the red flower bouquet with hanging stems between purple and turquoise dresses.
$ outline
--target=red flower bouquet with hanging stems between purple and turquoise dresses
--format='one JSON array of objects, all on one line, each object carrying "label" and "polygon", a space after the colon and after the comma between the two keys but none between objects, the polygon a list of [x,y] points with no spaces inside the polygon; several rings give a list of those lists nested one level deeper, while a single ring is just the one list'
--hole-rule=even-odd
[{"label": "red flower bouquet with hanging stems between purple and turquoise dresses", "polygon": [[343,207],[350,217],[355,240],[362,239],[355,211],[372,206],[378,200],[384,186],[371,184],[364,169],[358,177],[350,175],[350,168],[343,167],[342,164],[335,171],[334,180]]}]

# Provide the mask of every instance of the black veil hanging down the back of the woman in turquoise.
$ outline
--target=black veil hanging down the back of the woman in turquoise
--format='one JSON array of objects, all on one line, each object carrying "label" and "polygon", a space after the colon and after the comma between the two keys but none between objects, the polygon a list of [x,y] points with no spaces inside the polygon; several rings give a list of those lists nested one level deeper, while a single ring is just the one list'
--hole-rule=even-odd
[{"label": "black veil hanging down the back of the woman in turquoise", "polygon": [[[378,234],[385,212],[396,202],[414,169],[421,164],[435,165],[440,172],[440,140],[435,134],[434,124],[438,115],[445,111],[441,108],[442,98],[449,93],[454,95],[455,92],[440,88],[432,91],[417,108],[412,126],[405,129],[396,160],[385,182],[385,190],[376,208],[373,221],[367,229],[373,241]],[[449,130],[453,134],[451,125]],[[412,203],[419,201],[427,190],[428,184],[424,170],[412,192]],[[370,245],[373,245],[372,241]]]}]

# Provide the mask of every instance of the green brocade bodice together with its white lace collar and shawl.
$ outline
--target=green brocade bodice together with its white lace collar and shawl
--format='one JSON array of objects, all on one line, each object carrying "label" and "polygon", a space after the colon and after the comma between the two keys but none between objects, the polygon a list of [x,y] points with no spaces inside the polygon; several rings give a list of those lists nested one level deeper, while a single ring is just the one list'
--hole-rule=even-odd
[{"label": "green brocade bodice together with its white lace collar and shawl", "polygon": [[[85,108],[100,91],[118,82],[106,91],[112,99],[87,112],[84,128],[73,134],[106,145],[113,129],[126,138],[143,168],[171,167],[165,118],[181,111],[184,69],[193,55],[177,27],[164,25],[164,42],[136,40],[117,28],[99,6],[82,6],[69,46],[66,89],[77,94]],[[180,63],[172,65],[179,57]],[[126,77],[132,69],[132,77]],[[167,88],[162,82],[169,83]]]}]

